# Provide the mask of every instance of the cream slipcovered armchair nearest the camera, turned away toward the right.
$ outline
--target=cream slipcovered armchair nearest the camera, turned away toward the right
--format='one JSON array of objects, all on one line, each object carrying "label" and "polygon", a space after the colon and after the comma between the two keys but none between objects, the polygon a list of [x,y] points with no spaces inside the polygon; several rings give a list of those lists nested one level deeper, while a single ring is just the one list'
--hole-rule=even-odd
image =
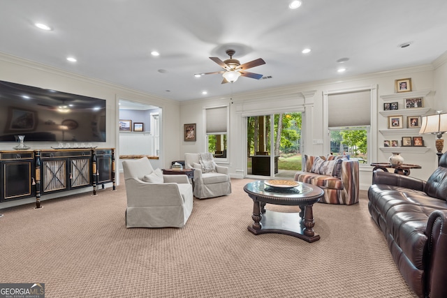
[{"label": "cream slipcovered armchair nearest the camera, turned away toward the right", "polygon": [[182,228],[193,210],[186,175],[163,175],[149,159],[123,161],[126,181],[126,228]]}]

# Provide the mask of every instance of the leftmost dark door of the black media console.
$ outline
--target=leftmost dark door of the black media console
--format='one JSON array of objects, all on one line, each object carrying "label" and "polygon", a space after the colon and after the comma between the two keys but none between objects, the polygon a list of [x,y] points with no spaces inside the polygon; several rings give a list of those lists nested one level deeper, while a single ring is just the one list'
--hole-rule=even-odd
[{"label": "leftmost dark door of the black media console", "polygon": [[1,163],[3,181],[2,201],[29,198],[31,191],[32,161],[14,161]]}]

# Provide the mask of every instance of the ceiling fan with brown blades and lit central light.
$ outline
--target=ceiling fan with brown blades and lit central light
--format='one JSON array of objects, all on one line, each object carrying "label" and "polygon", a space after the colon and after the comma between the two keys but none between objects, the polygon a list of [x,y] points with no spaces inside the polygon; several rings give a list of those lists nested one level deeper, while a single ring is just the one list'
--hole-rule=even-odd
[{"label": "ceiling fan with brown blades and lit central light", "polygon": [[226,53],[228,56],[230,56],[230,59],[226,59],[225,61],[222,61],[221,59],[217,57],[210,57],[210,59],[221,68],[225,70],[221,71],[214,71],[213,73],[203,73],[203,75],[212,75],[214,73],[222,73],[223,75],[223,81],[222,84],[228,83],[228,82],[236,82],[237,78],[242,77],[251,77],[252,79],[259,80],[263,75],[260,75],[258,73],[249,73],[248,71],[245,71],[246,69],[253,68],[255,66],[260,66],[265,64],[265,61],[261,58],[240,64],[239,60],[233,59],[233,55],[235,54],[235,50],[226,50]]}]

